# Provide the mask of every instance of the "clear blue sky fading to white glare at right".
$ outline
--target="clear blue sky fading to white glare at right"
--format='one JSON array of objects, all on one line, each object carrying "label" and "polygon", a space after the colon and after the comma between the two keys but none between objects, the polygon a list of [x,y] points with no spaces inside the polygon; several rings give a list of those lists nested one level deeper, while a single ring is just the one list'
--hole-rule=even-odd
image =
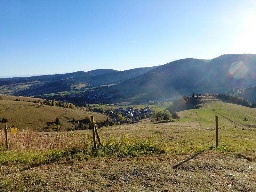
[{"label": "clear blue sky fading to white glare at right", "polygon": [[256,0],[0,0],[0,77],[256,54]]}]

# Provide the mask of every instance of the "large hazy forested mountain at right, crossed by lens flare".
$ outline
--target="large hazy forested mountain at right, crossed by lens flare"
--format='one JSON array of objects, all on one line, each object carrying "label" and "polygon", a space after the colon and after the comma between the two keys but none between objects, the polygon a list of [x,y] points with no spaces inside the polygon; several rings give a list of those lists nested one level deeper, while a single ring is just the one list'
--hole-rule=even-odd
[{"label": "large hazy forested mountain at right, crossed by lens flare", "polygon": [[[212,60],[181,59],[161,65],[112,89],[132,98],[155,100],[192,93],[223,93],[256,84],[256,54],[221,55]],[[127,88],[132,85],[131,88]]]}]

